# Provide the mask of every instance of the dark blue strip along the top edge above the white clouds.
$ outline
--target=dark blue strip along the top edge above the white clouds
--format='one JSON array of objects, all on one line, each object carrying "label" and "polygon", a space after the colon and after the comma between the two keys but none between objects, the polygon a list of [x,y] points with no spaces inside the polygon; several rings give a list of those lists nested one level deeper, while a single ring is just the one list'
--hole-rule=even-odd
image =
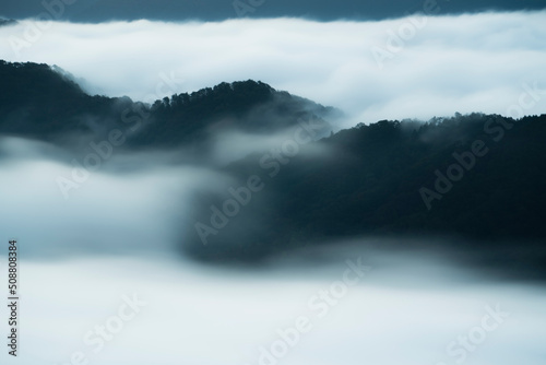
[{"label": "dark blue strip along the top edge above the white clouds", "polygon": [[[60,0],[45,0],[50,9],[59,13],[57,19],[75,22],[104,22],[110,20],[166,20],[180,21],[199,19],[219,21],[241,15],[234,7],[234,0],[64,0],[70,3],[59,12]],[[239,0],[236,0],[239,1]],[[253,4],[247,9],[246,16],[310,17],[320,21],[340,19],[378,20],[403,16],[423,10],[427,1],[434,0],[240,0],[240,3]],[[544,9],[544,0],[437,0],[441,13],[452,14],[484,10],[532,10]],[[73,3],[72,3],[73,2]],[[13,19],[37,16],[46,11],[40,0],[2,1],[0,15]]]}]

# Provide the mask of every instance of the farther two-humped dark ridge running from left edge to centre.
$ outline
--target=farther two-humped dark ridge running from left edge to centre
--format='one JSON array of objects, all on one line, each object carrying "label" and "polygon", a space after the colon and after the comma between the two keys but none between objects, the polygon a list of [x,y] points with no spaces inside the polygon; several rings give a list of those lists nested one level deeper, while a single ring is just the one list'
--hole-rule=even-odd
[{"label": "farther two-humped dark ridge running from left edge to centre", "polygon": [[273,133],[304,115],[325,118],[339,110],[275,91],[256,81],[222,83],[156,101],[87,95],[57,67],[0,61],[0,133],[66,141],[67,133],[100,139],[112,128],[131,130],[126,149],[173,149],[209,138],[219,121],[226,130]]}]

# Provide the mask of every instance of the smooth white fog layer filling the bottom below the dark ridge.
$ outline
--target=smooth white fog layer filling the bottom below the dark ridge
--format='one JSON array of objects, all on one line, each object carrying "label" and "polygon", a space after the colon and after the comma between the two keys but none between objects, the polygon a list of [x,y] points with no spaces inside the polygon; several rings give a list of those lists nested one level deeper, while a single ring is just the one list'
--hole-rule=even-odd
[{"label": "smooth white fog layer filling the bottom below the dark ridge", "polygon": [[[80,353],[97,365],[544,364],[543,289],[492,284],[423,256],[337,254],[307,272],[154,255],[25,261],[24,346],[8,364],[69,364]],[[346,263],[359,257],[371,269],[361,278]]]}]

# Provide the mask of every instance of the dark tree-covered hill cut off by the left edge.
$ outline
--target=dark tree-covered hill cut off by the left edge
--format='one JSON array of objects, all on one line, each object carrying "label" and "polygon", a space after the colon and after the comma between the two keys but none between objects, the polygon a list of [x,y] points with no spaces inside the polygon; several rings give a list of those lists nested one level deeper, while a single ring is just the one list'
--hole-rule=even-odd
[{"label": "dark tree-covered hill cut off by the left edge", "polygon": [[[118,104],[130,101],[90,96],[47,64],[0,61],[0,132],[40,140],[91,132],[91,116],[104,125],[115,118]],[[123,107],[122,105],[120,107]]]}]

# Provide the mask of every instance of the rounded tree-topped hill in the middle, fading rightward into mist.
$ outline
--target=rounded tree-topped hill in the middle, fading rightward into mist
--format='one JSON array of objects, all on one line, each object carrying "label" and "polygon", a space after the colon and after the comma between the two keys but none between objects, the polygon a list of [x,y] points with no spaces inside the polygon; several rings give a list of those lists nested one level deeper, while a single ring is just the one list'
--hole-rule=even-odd
[{"label": "rounded tree-topped hill in the middle, fading rightward into mist", "polygon": [[138,143],[180,145],[194,141],[195,136],[206,138],[205,130],[213,125],[216,130],[269,134],[296,126],[308,115],[329,118],[340,114],[251,80],[173,95],[155,102],[150,113],[152,122],[146,133],[135,138]]}]

